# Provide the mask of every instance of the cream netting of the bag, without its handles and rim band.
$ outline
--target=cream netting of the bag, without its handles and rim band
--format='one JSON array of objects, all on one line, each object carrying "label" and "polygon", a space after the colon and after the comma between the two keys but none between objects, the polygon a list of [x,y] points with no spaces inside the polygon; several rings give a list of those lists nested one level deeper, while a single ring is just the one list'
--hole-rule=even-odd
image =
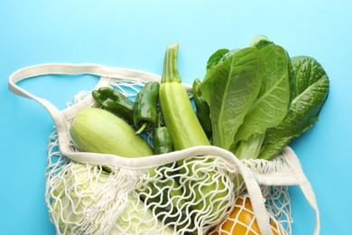
[{"label": "cream netting of the bag, without its handles and rim band", "polygon": [[[116,79],[111,86],[134,99],[144,82]],[[88,95],[80,92],[68,107]],[[144,138],[153,145],[152,133]],[[245,204],[245,183],[225,158],[192,155],[150,169],[81,164],[60,154],[56,131],[48,152],[46,203],[58,234],[260,234]],[[258,174],[287,170],[284,156],[243,162]],[[287,186],[261,188],[274,234],[291,234]],[[244,212],[252,216],[249,223]]]}]

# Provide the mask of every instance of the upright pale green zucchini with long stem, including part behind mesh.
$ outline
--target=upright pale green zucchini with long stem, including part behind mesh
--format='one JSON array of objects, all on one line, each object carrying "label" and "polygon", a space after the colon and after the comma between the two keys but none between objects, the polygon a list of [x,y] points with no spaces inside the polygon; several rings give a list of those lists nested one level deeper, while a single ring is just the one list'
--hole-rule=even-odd
[{"label": "upright pale green zucchini with long stem, including part behind mesh", "polygon": [[[181,150],[192,146],[209,146],[208,137],[199,124],[199,120],[191,106],[190,99],[186,89],[181,84],[181,77],[177,69],[178,43],[169,45],[165,52],[164,67],[162,73],[162,83],[160,86],[160,103],[162,115],[166,127],[168,127],[174,150]],[[193,159],[191,163],[185,164],[186,160],[181,160],[177,164],[180,166],[181,174],[190,175],[190,179],[195,176],[204,178],[205,172],[208,171],[207,165],[202,164],[199,160]],[[214,173],[209,172],[211,176]],[[194,209],[200,211],[210,210],[211,214],[216,214],[223,210],[221,199],[227,195],[224,190],[225,185],[219,180],[214,181],[212,177],[207,182],[199,185],[199,182],[186,181],[188,188],[193,183],[198,185],[192,187],[193,195],[197,203],[193,205]],[[221,193],[218,190],[222,190]],[[190,193],[190,192],[186,192]]]}]

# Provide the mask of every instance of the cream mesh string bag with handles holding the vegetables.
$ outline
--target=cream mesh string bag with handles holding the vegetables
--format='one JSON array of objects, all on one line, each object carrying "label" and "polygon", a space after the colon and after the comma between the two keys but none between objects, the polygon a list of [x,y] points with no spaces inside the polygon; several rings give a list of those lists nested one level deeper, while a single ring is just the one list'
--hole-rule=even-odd
[{"label": "cream mesh string bag with handles holding the vegetables", "polygon": [[[68,108],[59,110],[16,84],[47,74],[97,75],[100,80],[95,89],[110,86],[127,97],[160,77],[97,64],[43,64],[10,76],[9,88],[42,104],[56,127],[48,146],[45,197],[58,234],[232,234],[218,229],[225,221],[237,220],[241,225],[239,218],[227,220],[235,209],[248,211],[245,204],[235,205],[239,197],[250,199],[253,211],[249,212],[255,216],[252,223],[257,221],[261,234],[292,234],[290,185],[301,187],[316,211],[315,234],[320,233],[315,195],[290,147],[273,161],[238,160],[215,146],[139,158],[79,152],[69,136],[70,123],[79,110],[97,103],[90,91],[82,91],[69,101]],[[190,92],[190,87],[185,87]],[[153,145],[151,133],[145,138]],[[177,164],[181,160],[183,164]],[[215,185],[215,190],[206,194],[199,190],[208,184]],[[177,190],[183,193],[176,194]],[[197,193],[203,193],[200,201]],[[203,207],[199,209],[199,205]],[[270,221],[276,222],[274,228]],[[242,226],[245,234],[259,234],[251,226]]]}]

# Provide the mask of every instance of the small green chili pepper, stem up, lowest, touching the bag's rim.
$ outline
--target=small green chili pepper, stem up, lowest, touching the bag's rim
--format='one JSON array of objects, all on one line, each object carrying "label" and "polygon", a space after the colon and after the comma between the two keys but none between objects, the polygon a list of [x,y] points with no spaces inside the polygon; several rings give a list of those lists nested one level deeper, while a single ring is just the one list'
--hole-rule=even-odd
[{"label": "small green chili pepper, stem up, lowest, touching the bag's rim", "polygon": [[171,135],[167,127],[161,125],[161,115],[158,118],[158,127],[153,133],[154,155],[162,155],[172,152]]}]

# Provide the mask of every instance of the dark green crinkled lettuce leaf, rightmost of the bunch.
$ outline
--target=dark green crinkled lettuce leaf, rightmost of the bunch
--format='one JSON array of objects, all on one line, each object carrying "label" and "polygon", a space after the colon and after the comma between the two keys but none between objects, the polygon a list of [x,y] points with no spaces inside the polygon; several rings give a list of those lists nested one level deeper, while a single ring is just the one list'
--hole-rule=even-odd
[{"label": "dark green crinkled lettuce leaf, rightmost of the bunch", "polygon": [[267,130],[259,158],[273,159],[292,138],[312,127],[328,99],[329,78],[318,61],[308,56],[293,57],[292,67],[296,96],[283,122]]}]

